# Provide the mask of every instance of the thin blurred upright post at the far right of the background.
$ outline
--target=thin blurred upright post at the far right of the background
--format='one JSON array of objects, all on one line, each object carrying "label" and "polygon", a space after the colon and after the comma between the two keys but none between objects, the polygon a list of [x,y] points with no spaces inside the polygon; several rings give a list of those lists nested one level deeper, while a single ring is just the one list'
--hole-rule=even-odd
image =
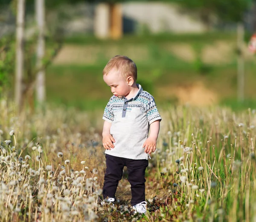
[{"label": "thin blurred upright post at the far right of the background", "polygon": [[238,23],[237,25],[237,96],[238,101],[244,101],[244,56],[243,56],[243,44],[244,44],[244,24]]}]

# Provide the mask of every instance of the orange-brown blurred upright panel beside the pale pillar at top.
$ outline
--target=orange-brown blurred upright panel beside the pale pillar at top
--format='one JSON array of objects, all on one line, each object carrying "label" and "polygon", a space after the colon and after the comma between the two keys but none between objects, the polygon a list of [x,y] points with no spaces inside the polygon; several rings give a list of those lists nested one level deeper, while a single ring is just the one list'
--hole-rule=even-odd
[{"label": "orange-brown blurred upright panel beside the pale pillar at top", "polygon": [[122,37],[122,5],[110,4],[110,32],[112,39],[120,39]]}]

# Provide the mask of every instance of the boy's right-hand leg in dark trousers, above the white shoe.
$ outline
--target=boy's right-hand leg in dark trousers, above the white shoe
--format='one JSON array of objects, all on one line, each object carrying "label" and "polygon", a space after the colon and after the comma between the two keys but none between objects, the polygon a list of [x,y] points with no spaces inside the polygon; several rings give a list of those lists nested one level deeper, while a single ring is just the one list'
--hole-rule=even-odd
[{"label": "boy's right-hand leg in dark trousers, above the white shoe", "polygon": [[128,181],[131,184],[131,205],[145,201],[145,170],[148,167],[148,160],[127,159]]}]

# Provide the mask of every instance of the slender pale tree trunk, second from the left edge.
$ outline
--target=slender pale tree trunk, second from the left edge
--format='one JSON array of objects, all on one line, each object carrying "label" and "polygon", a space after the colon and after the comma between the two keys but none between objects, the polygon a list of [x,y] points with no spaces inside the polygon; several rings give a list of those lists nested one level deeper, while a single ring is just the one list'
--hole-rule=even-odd
[{"label": "slender pale tree trunk, second from the left edge", "polygon": [[36,98],[39,104],[45,100],[45,71],[43,67],[43,58],[45,52],[44,42],[44,21],[45,10],[44,0],[35,0],[35,13],[38,25],[38,45],[37,45],[37,68],[39,69],[36,75]]}]

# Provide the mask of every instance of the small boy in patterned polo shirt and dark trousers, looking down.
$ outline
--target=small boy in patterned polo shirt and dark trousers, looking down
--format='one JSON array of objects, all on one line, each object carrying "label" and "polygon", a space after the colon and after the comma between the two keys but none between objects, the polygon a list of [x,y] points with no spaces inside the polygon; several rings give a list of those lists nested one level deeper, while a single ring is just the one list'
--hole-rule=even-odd
[{"label": "small boy in patterned polo shirt and dark trousers, looking down", "polygon": [[161,116],[152,95],[136,84],[137,67],[128,57],[111,58],[103,70],[103,80],[113,93],[103,115],[102,143],[107,166],[103,198],[115,201],[116,188],[126,166],[131,205],[136,212],[145,213],[145,169],[149,154],[156,150]]}]

